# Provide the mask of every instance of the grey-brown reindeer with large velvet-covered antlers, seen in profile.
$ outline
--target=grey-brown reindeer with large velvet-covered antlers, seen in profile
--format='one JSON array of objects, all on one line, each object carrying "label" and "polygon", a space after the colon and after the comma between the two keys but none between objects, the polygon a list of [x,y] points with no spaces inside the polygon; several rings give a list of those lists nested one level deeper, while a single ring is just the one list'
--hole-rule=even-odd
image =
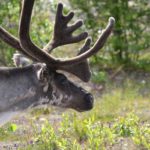
[{"label": "grey-brown reindeer with large velvet-covered antlers, seen in profile", "polygon": [[[92,109],[92,94],[75,85],[58,70],[71,73],[83,82],[88,82],[91,72],[87,59],[103,47],[113,30],[114,18],[109,18],[108,25],[90,48],[91,38],[88,37],[87,32],[73,35],[73,32],[81,27],[83,22],[78,20],[68,25],[74,13],[64,15],[63,5],[59,3],[53,37],[41,49],[32,42],[29,34],[34,1],[23,1],[19,39],[0,27],[0,39],[21,53],[14,55],[16,67],[0,68],[0,114],[2,118],[5,119],[4,114],[15,114],[28,108],[48,104],[72,108],[79,112]],[[58,59],[50,55],[59,46],[78,43],[82,40],[85,40],[85,43],[77,56],[73,58]],[[28,63],[28,59],[33,63]],[[22,67],[17,67],[19,65]]]}]

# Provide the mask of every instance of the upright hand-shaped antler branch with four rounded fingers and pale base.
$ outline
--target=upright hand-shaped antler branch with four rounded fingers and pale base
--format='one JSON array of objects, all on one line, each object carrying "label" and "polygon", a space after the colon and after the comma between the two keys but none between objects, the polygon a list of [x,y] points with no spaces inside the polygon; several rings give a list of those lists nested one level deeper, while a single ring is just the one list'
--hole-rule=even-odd
[{"label": "upright hand-shaped antler branch with four rounded fingers and pale base", "polygon": [[73,16],[73,12],[70,12],[68,15],[64,16],[63,4],[58,4],[54,25],[54,35],[52,40],[44,48],[45,51],[51,52],[54,48],[58,46],[77,43],[87,38],[87,32],[83,32],[76,36],[72,35],[75,30],[77,30],[83,25],[83,21],[78,20],[74,24],[67,26],[67,24],[73,18]]}]

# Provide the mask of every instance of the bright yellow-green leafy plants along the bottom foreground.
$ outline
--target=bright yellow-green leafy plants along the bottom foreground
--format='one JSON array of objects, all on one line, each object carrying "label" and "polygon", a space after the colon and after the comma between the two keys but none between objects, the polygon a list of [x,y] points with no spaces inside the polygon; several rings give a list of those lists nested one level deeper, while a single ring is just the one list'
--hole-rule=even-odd
[{"label": "bright yellow-green leafy plants along the bottom foreground", "polygon": [[[143,148],[150,148],[150,128],[142,126],[134,113],[120,117],[113,124],[101,123],[93,114],[81,119],[73,113],[64,115],[56,131],[49,123],[38,133],[36,148],[49,149],[107,149],[113,147],[121,138],[131,138],[132,142]],[[41,142],[41,143],[40,143]]]}]

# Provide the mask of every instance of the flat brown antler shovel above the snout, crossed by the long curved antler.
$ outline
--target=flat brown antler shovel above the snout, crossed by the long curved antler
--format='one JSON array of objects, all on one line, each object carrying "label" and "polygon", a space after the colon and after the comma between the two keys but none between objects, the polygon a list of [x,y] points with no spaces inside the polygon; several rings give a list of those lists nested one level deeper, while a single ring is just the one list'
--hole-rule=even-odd
[{"label": "flat brown antler shovel above the snout, crossed by the long curved antler", "polygon": [[[80,55],[90,48],[91,38],[88,38],[77,55]],[[84,60],[78,64],[61,67],[61,70],[74,74],[84,82],[88,82],[91,78],[91,71],[88,60]]]}]

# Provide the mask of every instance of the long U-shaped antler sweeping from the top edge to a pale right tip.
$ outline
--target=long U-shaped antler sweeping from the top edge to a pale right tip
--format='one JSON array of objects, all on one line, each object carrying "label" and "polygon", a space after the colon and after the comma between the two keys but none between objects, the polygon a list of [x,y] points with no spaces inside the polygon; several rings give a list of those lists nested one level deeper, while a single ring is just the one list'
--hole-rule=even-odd
[{"label": "long U-shaped antler sweeping from the top edge to a pale right tip", "polygon": [[97,40],[95,45],[85,53],[68,60],[55,59],[47,52],[44,52],[42,49],[34,45],[30,39],[29,27],[33,4],[34,0],[24,0],[19,30],[20,44],[27,53],[30,53],[31,56],[35,56],[39,61],[45,62],[47,65],[56,68],[59,68],[60,66],[67,66],[73,65],[75,63],[80,63],[88,57],[92,56],[94,53],[98,52],[98,50],[103,47],[108,36],[110,35],[115,22],[114,18],[111,17],[109,19],[109,24],[107,25],[106,29],[102,32],[100,38]]}]

